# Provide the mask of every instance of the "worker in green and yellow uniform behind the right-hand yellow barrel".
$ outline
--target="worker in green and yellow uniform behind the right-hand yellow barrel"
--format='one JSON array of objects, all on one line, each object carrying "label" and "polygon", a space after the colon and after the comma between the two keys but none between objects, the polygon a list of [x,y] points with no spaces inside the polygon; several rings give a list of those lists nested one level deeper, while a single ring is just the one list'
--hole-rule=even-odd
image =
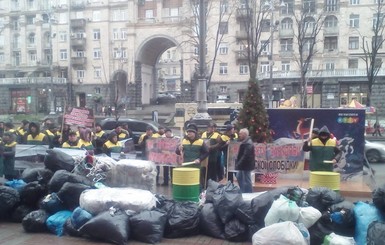
[{"label": "worker in green and yellow uniform behind the right-hand yellow barrel", "polygon": [[337,147],[337,141],[330,138],[327,126],[319,130],[317,138],[308,139],[304,142],[303,151],[310,152],[310,171],[333,171],[334,165],[342,156]]}]

